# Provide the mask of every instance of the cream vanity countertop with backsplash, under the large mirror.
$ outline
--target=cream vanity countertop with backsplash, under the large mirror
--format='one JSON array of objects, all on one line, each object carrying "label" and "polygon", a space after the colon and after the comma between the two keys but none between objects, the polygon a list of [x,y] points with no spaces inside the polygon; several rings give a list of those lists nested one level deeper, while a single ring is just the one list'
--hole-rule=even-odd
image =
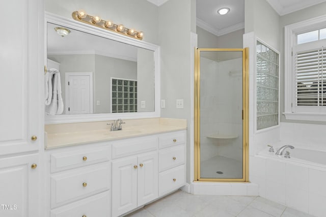
[{"label": "cream vanity countertop with backsplash, under the large mirror", "polygon": [[125,123],[122,124],[121,131],[110,131],[113,120],[45,125],[45,148],[146,136],[187,128],[184,119],[145,118],[123,121]]}]

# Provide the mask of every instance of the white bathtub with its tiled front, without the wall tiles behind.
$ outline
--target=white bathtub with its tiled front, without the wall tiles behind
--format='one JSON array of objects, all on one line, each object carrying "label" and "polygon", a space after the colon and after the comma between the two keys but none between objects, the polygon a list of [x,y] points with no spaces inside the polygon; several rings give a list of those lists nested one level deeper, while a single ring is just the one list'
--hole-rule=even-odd
[{"label": "white bathtub with its tiled front, without the wall tiles behind", "polygon": [[[326,216],[326,151],[312,150],[285,142],[272,144],[250,159],[250,181],[258,184],[259,196],[314,216]],[[276,151],[283,145],[282,156]],[[291,158],[284,158],[286,151]]]}]

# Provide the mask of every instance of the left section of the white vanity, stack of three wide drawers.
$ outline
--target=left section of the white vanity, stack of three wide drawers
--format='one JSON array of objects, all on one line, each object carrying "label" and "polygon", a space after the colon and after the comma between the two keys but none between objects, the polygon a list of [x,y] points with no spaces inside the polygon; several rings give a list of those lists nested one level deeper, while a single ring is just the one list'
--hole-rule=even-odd
[{"label": "left section of the white vanity, stack of three wide drawers", "polygon": [[45,216],[111,216],[110,145],[47,150],[46,159],[49,208]]}]

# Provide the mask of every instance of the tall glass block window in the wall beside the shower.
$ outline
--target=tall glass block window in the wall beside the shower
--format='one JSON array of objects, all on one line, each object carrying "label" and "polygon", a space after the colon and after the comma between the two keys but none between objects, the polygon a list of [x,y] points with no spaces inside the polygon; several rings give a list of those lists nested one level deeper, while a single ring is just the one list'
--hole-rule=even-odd
[{"label": "tall glass block window in the wall beside the shower", "polygon": [[279,54],[257,41],[257,130],[279,124]]}]

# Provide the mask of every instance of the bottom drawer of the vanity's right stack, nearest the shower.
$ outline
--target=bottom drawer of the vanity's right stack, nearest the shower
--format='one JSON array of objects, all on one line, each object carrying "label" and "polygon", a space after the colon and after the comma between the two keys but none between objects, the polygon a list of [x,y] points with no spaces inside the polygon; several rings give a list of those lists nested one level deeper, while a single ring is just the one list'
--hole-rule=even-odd
[{"label": "bottom drawer of the vanity's right stack, nearest the shower", "polygon": [[166,170],[158,175],[158,196],[182,187],[185,183],[184,165]]}]

